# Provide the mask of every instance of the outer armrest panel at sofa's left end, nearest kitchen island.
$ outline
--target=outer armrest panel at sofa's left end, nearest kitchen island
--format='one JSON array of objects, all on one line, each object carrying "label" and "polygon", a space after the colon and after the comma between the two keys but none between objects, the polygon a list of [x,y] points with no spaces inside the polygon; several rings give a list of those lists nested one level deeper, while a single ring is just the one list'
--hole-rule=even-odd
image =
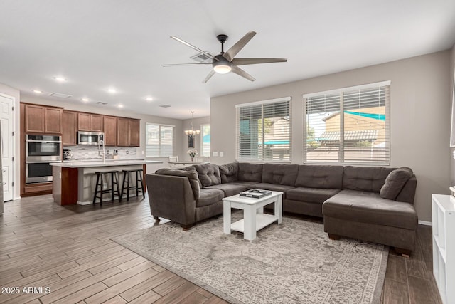
[{"label": "outer armrest panel at sofa's left end, nearest kitchen island", "polygon": [[178,224],[196,222],[196,201],[187,177],[146,174],[150,212]]}]

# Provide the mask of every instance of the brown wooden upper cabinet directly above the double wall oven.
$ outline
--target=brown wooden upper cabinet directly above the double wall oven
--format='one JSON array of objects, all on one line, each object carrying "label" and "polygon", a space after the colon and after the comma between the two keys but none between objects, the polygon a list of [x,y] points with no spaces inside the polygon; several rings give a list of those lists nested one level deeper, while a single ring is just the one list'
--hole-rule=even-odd
[{"label": "brown wooden upper cabinet directly above the double wall oven", "polygon": [[62,134],[63,108],[25,104],[25,132]]}]

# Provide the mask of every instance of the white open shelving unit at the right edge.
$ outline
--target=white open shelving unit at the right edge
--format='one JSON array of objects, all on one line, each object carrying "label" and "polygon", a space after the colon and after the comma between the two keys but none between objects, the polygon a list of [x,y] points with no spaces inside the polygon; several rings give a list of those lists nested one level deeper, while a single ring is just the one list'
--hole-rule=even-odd
[{"label": "white open shelving unit at the right edge", "polygon": [[444,304],[455,303],[455,197],[432,194],[433,274]]}]

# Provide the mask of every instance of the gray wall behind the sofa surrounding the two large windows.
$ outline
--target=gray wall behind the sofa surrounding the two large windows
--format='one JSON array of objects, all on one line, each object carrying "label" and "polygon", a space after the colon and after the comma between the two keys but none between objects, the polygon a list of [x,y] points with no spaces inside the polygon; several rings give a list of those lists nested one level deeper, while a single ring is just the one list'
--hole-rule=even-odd
[{"label": "gray wall behind the sofa surrounding the two large windows", "polygon": [[235,161],[235,105],[291,96],[292,163],[303,163],[302,95],[391,80],[391,167],[407,166],[417,175],[415,206],[421,221],[431,221],[431,194],[448,194],[451,51],[348,70],[211,99],[212,157]]}]

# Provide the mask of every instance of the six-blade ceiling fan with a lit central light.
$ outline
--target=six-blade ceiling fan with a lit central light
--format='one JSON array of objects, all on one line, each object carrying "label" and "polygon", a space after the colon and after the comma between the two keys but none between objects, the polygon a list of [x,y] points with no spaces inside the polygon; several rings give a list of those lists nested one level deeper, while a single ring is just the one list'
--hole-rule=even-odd
[{"label": "six-blade ceiling fan with a lit central light", "polygon": [[235,43],[228,51],[224,51],[224,43],[228,40],[228,35],[218,35],[218,41],[221,43],[221,53],[213,56],[210,53],[202,51],[200,48],[193,46],[191,43],[183,41],[181,38],[176,36],[171,36],[174,40],[183,43],[194,50],[203,53],[205,56],[212,58],[212,62],[210,63],[179,63],[179,64],[164,64],[162,66],[177,66],[177,65],[209,65],[213,66],[213,70],[208,73],[207,77],[203,80],[203,83],[206,83],[215,73],[219,74],[226,74],[229,72],[236,73],[237,75],[242,76],[243,78],[247,78],[247,80],[255,81],[255,78],[252,75],[245,72],[238,67],[238,65],[248,65],[248,64],[259,64],[259,63],[275,63],[275,62],[286,62],[287,59],[285,58],[234,58],[237,53],[242,50],[242,48],[256,35],[255,31],[249,31],[245,36],[243,36],[237,43]]}]

